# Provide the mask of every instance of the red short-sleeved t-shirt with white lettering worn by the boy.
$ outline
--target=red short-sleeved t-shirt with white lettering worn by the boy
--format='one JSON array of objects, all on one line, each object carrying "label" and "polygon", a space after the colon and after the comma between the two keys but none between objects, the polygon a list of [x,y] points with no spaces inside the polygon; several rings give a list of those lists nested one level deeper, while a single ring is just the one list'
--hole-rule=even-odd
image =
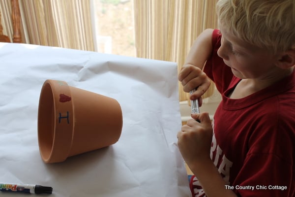
[{"label": "red short-sleeved t-shirt with white lettering worn by the boy", "polygon": [[[204,71],[222,94],[213,119],[211,159],[240,197],[295,197],[295,71],[242,99],[227,95],[239,83],[218,57],[221,34],[212,34]],[[194,177],[193,197],[205,196]]]}]

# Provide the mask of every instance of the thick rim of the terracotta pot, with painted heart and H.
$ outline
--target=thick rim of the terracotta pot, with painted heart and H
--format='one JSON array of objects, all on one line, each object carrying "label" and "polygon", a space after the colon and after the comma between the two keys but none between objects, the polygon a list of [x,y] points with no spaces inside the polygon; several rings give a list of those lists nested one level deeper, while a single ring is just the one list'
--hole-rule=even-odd
[{"label": "thick rim of the terracotta pot, with painted heart and H", "polygon": [[38,107],[38,144],[45,163],[63,162],[69,155],[74,127],[72,104],[66,82],[51,79],[44,82]]}]

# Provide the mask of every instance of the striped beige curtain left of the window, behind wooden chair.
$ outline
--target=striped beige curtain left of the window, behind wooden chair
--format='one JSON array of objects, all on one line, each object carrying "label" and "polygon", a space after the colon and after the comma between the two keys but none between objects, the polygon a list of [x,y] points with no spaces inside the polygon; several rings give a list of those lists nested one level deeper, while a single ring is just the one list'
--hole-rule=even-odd
[{"label": "striped beige curtain left of the window, behind wooden chair", "polygon": [[[19,0],[19,6],[24,43],[94,51],[89,0]],[[11,39],[10,0],[0,1],[0,12]]]}]

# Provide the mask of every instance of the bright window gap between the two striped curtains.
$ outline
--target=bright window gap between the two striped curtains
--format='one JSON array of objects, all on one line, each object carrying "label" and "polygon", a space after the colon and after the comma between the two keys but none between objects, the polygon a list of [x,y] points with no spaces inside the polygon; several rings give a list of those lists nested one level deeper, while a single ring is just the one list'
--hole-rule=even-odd
[{"label": "bright window gap between the two striped curtains", "polygon": [[136,56],[133,0],[92,0],[96,51]]}]

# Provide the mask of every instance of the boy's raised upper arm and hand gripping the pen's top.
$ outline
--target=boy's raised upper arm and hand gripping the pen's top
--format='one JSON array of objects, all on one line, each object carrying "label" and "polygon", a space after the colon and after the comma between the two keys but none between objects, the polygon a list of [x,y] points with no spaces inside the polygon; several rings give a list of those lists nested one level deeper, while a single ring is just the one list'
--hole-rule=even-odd
[{"label": "boy's raised upper arm and hand gripping the pen's top", "polygon": [[192,100],[200,98],[210,86],[210,80],[202,69],[212,53],[212,33],[213,29],[207,29],[197,37],[178,75],[184,92],[198,87],[190,96]]}]

